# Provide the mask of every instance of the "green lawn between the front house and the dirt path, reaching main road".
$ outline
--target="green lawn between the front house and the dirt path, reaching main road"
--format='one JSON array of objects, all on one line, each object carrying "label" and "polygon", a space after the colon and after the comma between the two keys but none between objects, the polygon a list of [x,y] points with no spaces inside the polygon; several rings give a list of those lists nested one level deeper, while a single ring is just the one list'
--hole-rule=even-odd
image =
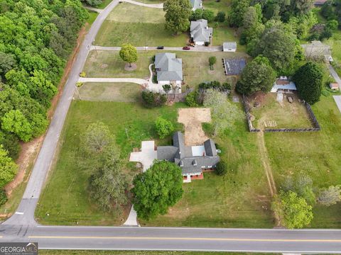
[{"label": "green lawn between the front house and the dirt path, reaching main road", "polygon": [[269,188],[258,158],[256,136],[244,121],[220,137],[222,160],[231,170],[227,176],[205,173],[203,180],[183,185],[183,198],[146,226],[274,227]]}]

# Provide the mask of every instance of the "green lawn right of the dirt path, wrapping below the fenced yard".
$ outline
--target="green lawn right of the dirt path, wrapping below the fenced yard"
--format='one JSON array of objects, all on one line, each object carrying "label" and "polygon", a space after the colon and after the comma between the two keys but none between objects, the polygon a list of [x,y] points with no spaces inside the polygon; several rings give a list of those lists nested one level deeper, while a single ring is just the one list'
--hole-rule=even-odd
[{"label": "green lawn right of the dirt path, wrapping below the fenced yard", "polygon": [[[341,183],[341,113],[332,96],[321,96],[312,108],[320,123],[320,132],[264,135],[278,188],[286,176],[300,173],[310,176],[317,188]],[[313,210],[311,227],[341,227],[340,203],[315,206]]]}]

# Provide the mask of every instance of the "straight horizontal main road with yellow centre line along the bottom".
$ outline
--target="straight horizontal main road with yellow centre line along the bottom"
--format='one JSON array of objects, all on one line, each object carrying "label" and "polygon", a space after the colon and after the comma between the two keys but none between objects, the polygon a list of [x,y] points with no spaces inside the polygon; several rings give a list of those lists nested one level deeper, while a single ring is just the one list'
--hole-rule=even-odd
[{"label": "straight horizontal main road with yellow centre line along the bottom", "polygon": [[0,228],[0,242],[38,242],[40,249],[143,249],[337,253],[341,230],[165,227]]}]

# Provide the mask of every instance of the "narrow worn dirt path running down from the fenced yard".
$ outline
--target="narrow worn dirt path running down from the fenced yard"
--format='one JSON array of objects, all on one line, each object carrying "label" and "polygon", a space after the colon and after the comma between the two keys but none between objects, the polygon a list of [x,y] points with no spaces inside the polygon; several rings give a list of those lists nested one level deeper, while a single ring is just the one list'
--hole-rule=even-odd
[{"label": "narrow worn dirt path running down from the fenced yard", "polygon": [[271,193],[271,196],[274,196],[274,195],[276,195],[277,190],[276,190],[276,184],[274,181],[274,176],[273,176],[272,170],[271,170],[270,160],[268,157],[268,151],[267,151],[266,146],[265,146],[264,132],[258,132],[257,133],[257,140],[258,140],[258,146],[259,146],[259,154],[261,156],[261,162],[264,166],[266,179],[268,179],[270,193]]}]

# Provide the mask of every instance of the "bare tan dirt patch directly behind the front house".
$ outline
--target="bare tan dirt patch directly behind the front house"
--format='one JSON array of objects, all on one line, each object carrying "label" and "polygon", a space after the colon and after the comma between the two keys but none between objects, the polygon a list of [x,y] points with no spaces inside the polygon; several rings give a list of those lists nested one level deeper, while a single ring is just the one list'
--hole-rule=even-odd
[{"label": "bare tan dirt patch directly behind the front house", "polygon": [[208,139],[202,123],[210,123],[211,120],[210,108],[180,108],[178,123],[185,126],[185,145],[202,145]]}]

